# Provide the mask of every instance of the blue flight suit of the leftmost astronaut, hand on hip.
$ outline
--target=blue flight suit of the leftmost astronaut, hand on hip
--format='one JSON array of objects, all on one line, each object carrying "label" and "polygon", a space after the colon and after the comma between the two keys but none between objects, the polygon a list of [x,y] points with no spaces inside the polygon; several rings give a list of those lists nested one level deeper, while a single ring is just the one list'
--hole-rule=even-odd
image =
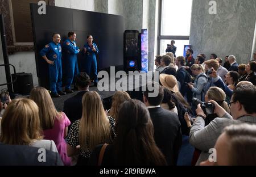
[{"label": "blue flight suit of the leftmost astronaut, hand on hip", "polygon": [[61,50],[61,45],[52,41],[40,51],[41,56],[47,56],[48,60],[54,61],[53,65],[48,65],[50,90],[53,94],[61,91],[62,87]]}]

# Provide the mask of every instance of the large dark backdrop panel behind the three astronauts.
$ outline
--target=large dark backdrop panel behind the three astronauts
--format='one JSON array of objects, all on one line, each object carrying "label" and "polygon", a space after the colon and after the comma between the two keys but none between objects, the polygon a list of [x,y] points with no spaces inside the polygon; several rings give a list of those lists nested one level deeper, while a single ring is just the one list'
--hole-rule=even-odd
[{"label": "large dark backdrop panel behind the three astronauts", "polygon": [[[61,35],[61,44],[69,31],[77,34],[80,50],[86,43],[87,35],[93,35],[100,54],[97,56],[98,70],[123,65],[123,17],[63,7],[46,6],[46,15],[38,14],[38,5],[31,4],[32,29],[35,45],[36,71],[39,85],[49,88],[48,65],[39,55],[40,50],[52,41],[52,33]],[[78,55],[79,69],[84,71],[86,62],[83,54]]]}]

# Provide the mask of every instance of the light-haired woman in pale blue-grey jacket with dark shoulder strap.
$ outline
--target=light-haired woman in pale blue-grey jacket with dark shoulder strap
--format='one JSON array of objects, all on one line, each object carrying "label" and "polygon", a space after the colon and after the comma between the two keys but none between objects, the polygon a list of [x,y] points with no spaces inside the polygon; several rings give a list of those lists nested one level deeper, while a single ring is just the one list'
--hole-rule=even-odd
[{"label": "light-haired woman in pale blue-grey jacket with dark shoulder strap", "polygon": [[193,98],[204,101],[205,92],[207,91],[204,90],[204,88],[208,82],[208,77],[204,73],[204,68],[202,65],[193,64],[191,66],[191,71],[196,78],[195,83],[188,83],[188,87],[192,90]]}]

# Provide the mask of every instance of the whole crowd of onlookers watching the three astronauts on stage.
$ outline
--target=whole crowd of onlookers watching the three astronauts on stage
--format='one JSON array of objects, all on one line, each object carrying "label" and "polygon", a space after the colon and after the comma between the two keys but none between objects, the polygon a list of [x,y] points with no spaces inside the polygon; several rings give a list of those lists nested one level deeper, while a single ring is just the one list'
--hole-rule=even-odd
[{"label": "whole crowd of onlookers watching the three astronauts on stage", "polygon": [[[238,65],[230,55],[222,66],[216,54],[193,58],[192,49],[186,57],[156,56],[159,83],[150,84],[158,95],[149,96],[153,91],[146,87],[141,102],[116,91],[109,110],[89,90],[86,73],[77,74],[79,92],[65,100],[63,112],[46,88],[35,87],[29,98],[5,105],[0,146],[8,148],[1,148],[1,157],[22,150],[26,155],[5,164],[38,165],[34,149],[43,148],[48,165],[175,166],[188,136],[195,147],[191,165],[255,165],[256,54],[254,60]],[[209,158],[211,149],[216,157]]]}]

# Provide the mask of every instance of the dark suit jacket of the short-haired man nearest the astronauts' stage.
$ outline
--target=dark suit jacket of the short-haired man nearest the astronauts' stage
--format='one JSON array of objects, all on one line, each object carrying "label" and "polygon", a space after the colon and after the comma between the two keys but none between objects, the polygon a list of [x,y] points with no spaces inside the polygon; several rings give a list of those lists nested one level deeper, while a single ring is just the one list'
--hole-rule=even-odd
[{"label": "dark suit jacket of the short-haired man nearest the astronauts' stage", "polygon": [[65,100],[63,112],[67,115],[71,124],[76,120],[81,119],[82,116],[82,96],[87,91],[80,91],[75,96]]}]

